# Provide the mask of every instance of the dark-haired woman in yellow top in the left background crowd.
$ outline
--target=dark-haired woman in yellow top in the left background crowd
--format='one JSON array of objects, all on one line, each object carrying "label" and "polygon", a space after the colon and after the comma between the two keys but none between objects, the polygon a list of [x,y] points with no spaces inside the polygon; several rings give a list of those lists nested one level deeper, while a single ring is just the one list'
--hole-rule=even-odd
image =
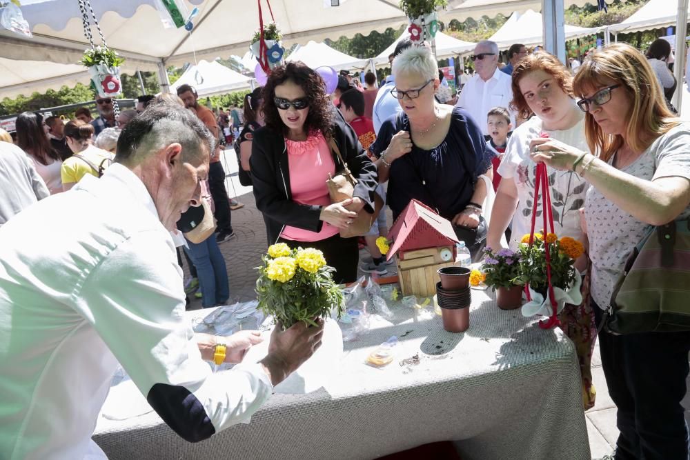
[{"label": "dark-haired woman in yellow top in the left background crowd", "polygon": [[[60,170],[64,191],[74,187],[86,174],[101,177],[115,157],[107,150],[93,145],[91,141],[93,131],[93,126],[81,120],[71,120],[65,125],[67,146],[74,154],[62,163]],[[105,130],[99,135],[102,135],[103,132]]]}]

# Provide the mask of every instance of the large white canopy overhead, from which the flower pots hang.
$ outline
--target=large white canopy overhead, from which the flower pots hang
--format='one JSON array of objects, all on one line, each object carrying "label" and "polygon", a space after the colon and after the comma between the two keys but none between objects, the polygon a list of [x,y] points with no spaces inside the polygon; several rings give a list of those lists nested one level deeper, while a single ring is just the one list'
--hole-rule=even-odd
[{"label": "large white canopy overhead, from which the flower pots hang", "polygon": [[[554,0],[451,0],[448,10],[441,11],[440,17],[443,21],[494,17],[499,12],[540,8],[542,1]],[[590,0],[566,0],[566,6],[573,3],[582,6],[587,1]],[[258,8],[253,2],[239,6],[237,0],[184,0],[189,10],[199,8],[191,34],[184,29],[164,28],[161,14],[155,8],[156,0],[91,2],[108,46],[127,58],[121,70],[127,73],[157,70],[164,89],[166,66],[244,54],[258,26]],[[268,21],[268,8],[266,3],[262,4],[264,19]],[[323,0],[273,0],[271,5],[286,47],[310,40],[366,35],[373,30],[382,32],[406,23],[397,0],[348,0],[332,8],[325,8]],[[34,37],[0,30],[0,57],[63,64],[75,64],[81,59],[88,41],[83,37],[76,0],[23,0],[21,10]],[[95,39],[98,43],[97,34]],[[65,81],[70,81],[70,77]],[[52,84],[59,86],[55,78]],[[3,87],[0,87],[2,96]]]}]

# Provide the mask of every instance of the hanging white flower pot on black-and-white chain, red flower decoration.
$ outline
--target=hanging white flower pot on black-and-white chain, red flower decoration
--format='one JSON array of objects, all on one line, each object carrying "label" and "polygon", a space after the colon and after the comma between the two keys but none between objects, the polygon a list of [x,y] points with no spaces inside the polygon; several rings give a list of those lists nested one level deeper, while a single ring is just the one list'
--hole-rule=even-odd
[{"label": "hanging white flower pot on black-and-white chain, red flower decoration", "polygon": [[[98,34],[101,37],[101,45],[95,46],[93,43],[93,36],[91,34],[91,24],[86,8],[91,14],[91,18],[96,25]],[[119,57],[115,50],[108,48],[101,27],[98,25],[96,14],[93,12],[90,0],[79,0],[79,9],[81,10],[81,21],[83,23],[84,36],[88,39],[91,48],[84,50],[80,63],[88,68],[99,97],[115,97],[122,93],[122,84],[120,82],[120,68],[124,58]],[[113,108],[115,114],[119,113],[117,101],[113,101]]]}]

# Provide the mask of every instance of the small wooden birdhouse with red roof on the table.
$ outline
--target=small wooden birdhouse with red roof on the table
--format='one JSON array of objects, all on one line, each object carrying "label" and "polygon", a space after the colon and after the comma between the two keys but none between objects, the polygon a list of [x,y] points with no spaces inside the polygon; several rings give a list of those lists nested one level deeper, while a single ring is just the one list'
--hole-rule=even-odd
[{"label": "small wooden birdhouse with red roof on the table", "polygon": [[395,219],[388,239],[388,259],[395,256],[404,295],[433,296],[439,281],[436,270],[455,263],[455,231],[448,219],[413,199]]}]

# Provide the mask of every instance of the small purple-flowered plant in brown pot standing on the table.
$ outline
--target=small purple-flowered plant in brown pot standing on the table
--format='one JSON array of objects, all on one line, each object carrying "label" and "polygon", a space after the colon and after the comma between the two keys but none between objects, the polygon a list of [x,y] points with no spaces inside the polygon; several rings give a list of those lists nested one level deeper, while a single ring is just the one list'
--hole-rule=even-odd
[{"label": "small purple-flowered plant in brown pot standing on the table", "polygon": [[484,283],[496,291],[496,303],[502,310],[513,310],[522,306],[520,277],[520,252],[509,249],[484,250],[482,272],[486,275]]}]

